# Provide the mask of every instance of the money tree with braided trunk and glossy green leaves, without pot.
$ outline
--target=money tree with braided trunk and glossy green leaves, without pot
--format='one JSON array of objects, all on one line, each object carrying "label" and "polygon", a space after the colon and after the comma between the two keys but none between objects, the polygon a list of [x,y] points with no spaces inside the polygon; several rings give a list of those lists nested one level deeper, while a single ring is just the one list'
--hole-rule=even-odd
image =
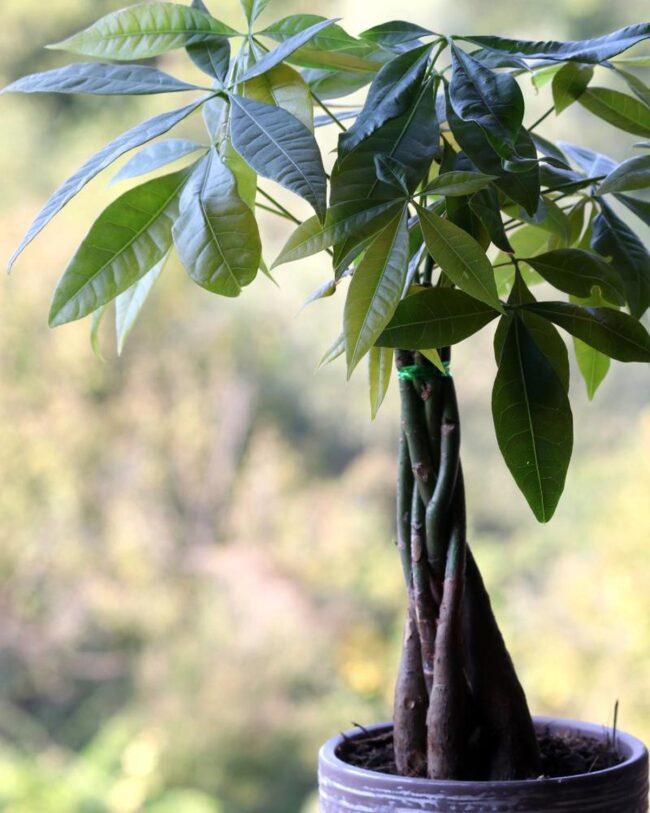
[{"label": "money tree with braided trunk and glossy green leaves, without pot", "polygon": [[[50,46],[99,61],[5,89],[194,94],[88,159],[10,265],[89,181],[142,147],[115,180],[152,177],[129,183],[99,215],[49,315],[52,327],[91,316],[96,330],[114,302],[121,348],[172,251],[193,282],[235,297],[269,273],[256,209],[293,221],[273,266],[324,252],[328,279],[311,299],[344,300],[324,361],[345,356],[349,377],[365,360],[373,417],[397,369],[396,535],[407,595],[397,768],[445,779],[537,776],[525,694],[467,543],[450,348],[496,322],[496,438],[535,517],[548,522],[573,442],[558,328],[590,397],[610,359],[650,361],[640,322],[650,255],[634,231],[650,225],[650,141],[617,163],[549,141],[541,125],[577,105],[585,127],[600,119],[650,139],[650,88],[639,75],[650,58],[621,56],[650,37],[650,24],[576,42],[450,36],[401,21],[355,37],[314,14],[262,26],[268,4],[241,0],[241,31],[202,0],[131,6]],[[198,70],[181,79],[150,61],[174,49]],[[525,92],[548,96],[536,121]],[[158,140],[198,113],[201,143]],[[340,131],[327,169],[315,137],[324,127]],[[313,216],[296,217],[259,179],[303,198]]]}]

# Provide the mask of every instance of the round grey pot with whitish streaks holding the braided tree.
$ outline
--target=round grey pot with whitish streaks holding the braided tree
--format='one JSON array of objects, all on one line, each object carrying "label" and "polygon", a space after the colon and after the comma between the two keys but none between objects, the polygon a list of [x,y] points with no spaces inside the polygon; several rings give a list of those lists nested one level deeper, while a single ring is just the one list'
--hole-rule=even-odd
[{"label": "round grey pot with whitish streaks holding the braided tree", "polygon": [[[602,726],[536,717],[538,730],[604,740]],[[375,734],[390,729],[372,726]],[[350,731],[348,738],[363,736]],[[558,779],[524,782],[439,782],[354,768],[337,749],[343,735],[325,743],[319,757],[322,813],[648,813],[648,752],[640,740],[618,733],[623,762],[614,768]]]}]

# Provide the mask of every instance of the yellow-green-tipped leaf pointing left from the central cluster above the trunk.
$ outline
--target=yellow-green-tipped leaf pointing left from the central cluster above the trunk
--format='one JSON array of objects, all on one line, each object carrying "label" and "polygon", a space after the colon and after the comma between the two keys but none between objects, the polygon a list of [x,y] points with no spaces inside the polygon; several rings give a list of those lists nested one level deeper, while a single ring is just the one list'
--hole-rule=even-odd
[{"label": "yellow-green-tipped leaf pointing left from the central cluster above the trunk", "polygon": [[[350,201],[333,206],[327,211],[325,224],[317,217],[301,223],[285,243],[272,268],[318,254],[329,246],[341,242],[352,234],[362,238],[375,234],[393,220],[403,204],[394,201],[373,203],[367,200]],[[369,227],[369,228],[368,228]]]}]

